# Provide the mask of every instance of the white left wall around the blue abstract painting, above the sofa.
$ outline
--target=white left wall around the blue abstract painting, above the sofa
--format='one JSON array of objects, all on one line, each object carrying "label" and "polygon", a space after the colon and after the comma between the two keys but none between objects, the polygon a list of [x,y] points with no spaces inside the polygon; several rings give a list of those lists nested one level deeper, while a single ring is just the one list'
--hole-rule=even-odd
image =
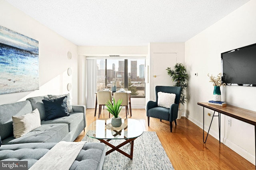
[{"label": "white left wall around the blue abstract painting, above the sofa", "polygon": [[[28,97],[68,93],[72,83],[72,103],[78,103],[77,46],[51,31],[17,8],[0,0],[0,25],[39,42],[39,90],[0,95],[0,104],[26,100]],[[72,53],[68,60],[67,53]],[[67,69],[71,67],[72,76]]]}]

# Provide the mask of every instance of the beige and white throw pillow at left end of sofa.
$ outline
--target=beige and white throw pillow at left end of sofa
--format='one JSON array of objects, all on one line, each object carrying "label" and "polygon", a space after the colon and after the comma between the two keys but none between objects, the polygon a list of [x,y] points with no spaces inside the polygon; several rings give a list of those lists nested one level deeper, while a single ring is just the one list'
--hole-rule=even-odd
[{"label": "beige and white throw pillow at left end of sofa", "polygon": [[22,116],[12,116],[13,135],[15,138],[22,137],[28,132],[41,126],[38,109]]}]

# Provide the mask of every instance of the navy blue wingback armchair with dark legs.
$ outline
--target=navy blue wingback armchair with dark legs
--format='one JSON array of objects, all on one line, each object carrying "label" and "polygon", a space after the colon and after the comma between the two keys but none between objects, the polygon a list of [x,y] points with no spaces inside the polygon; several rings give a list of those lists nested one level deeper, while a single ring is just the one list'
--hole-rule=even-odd
[{"label": "navy blue wingback armchair with dark legs", "polygon": [[[172,104],[170,108],[159,107],[158,106],[158,92],[176,94],[174,104]],[[160,119],[160,121],[162,121],[162,119],[163,119],[166,121],[170,121],[170,129],[172,132],[172,121],[174,121],[175,125],[177,125],[176,119],[178,117],[180,94],[181,94],[181,87],[156,86],[156,102],[148,101],[148,104],[147,104],[148,126],[149,126],[149,118],[150,117],[158,118],[158,119]]]}]

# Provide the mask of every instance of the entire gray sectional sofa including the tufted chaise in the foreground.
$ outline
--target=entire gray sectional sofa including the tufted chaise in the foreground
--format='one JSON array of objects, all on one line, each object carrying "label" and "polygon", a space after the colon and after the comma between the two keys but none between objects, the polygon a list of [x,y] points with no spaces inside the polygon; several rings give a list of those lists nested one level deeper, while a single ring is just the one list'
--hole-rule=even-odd
[{"label": "entire gray sectional sofa including the tufted chaise in the foreground", "polygon": [[[26,101],[0,106],[0,161],[28,161],[30,168],[39,158],[59,141],[72,142],[86,127],[86,112],[82,105],[72,105],[73,113],[69,116],[44,121],[46,117],[42,100],[48,96],[28,98]],[[12,116],[21,116],[38,109],[41,126],[14,138]],[[38,118],[39,119],[39,118]],[[101,170],[105,159],[105,145],[102,143],[85,143],[71,170]]]}]

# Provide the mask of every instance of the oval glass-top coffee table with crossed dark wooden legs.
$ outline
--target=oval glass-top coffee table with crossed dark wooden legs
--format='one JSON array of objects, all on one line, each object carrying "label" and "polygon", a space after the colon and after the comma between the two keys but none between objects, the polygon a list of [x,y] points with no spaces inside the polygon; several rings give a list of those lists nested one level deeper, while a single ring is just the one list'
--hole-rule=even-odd
[{"label": "oval glass-top coffee table with crossed dark wooden legs", "polygon": [[[142,125],[138,120],[135,119],[122,119],[122,125],[120,127],[112,127],[111,119],[96,120],[90,126],[87,127],[86,135],[91,138],[98,139],[102,143],[105,143],[112,149],[106,152],[106,155],[110,154],[114,150],[132,159],[133,156],[133,144],[134,140],[137,139],[143,133]],[[125,139],[123,143],[118,146],[114,146],[109,141]],[[131,144],[130,154],[124,152],[120,147]]]}]

